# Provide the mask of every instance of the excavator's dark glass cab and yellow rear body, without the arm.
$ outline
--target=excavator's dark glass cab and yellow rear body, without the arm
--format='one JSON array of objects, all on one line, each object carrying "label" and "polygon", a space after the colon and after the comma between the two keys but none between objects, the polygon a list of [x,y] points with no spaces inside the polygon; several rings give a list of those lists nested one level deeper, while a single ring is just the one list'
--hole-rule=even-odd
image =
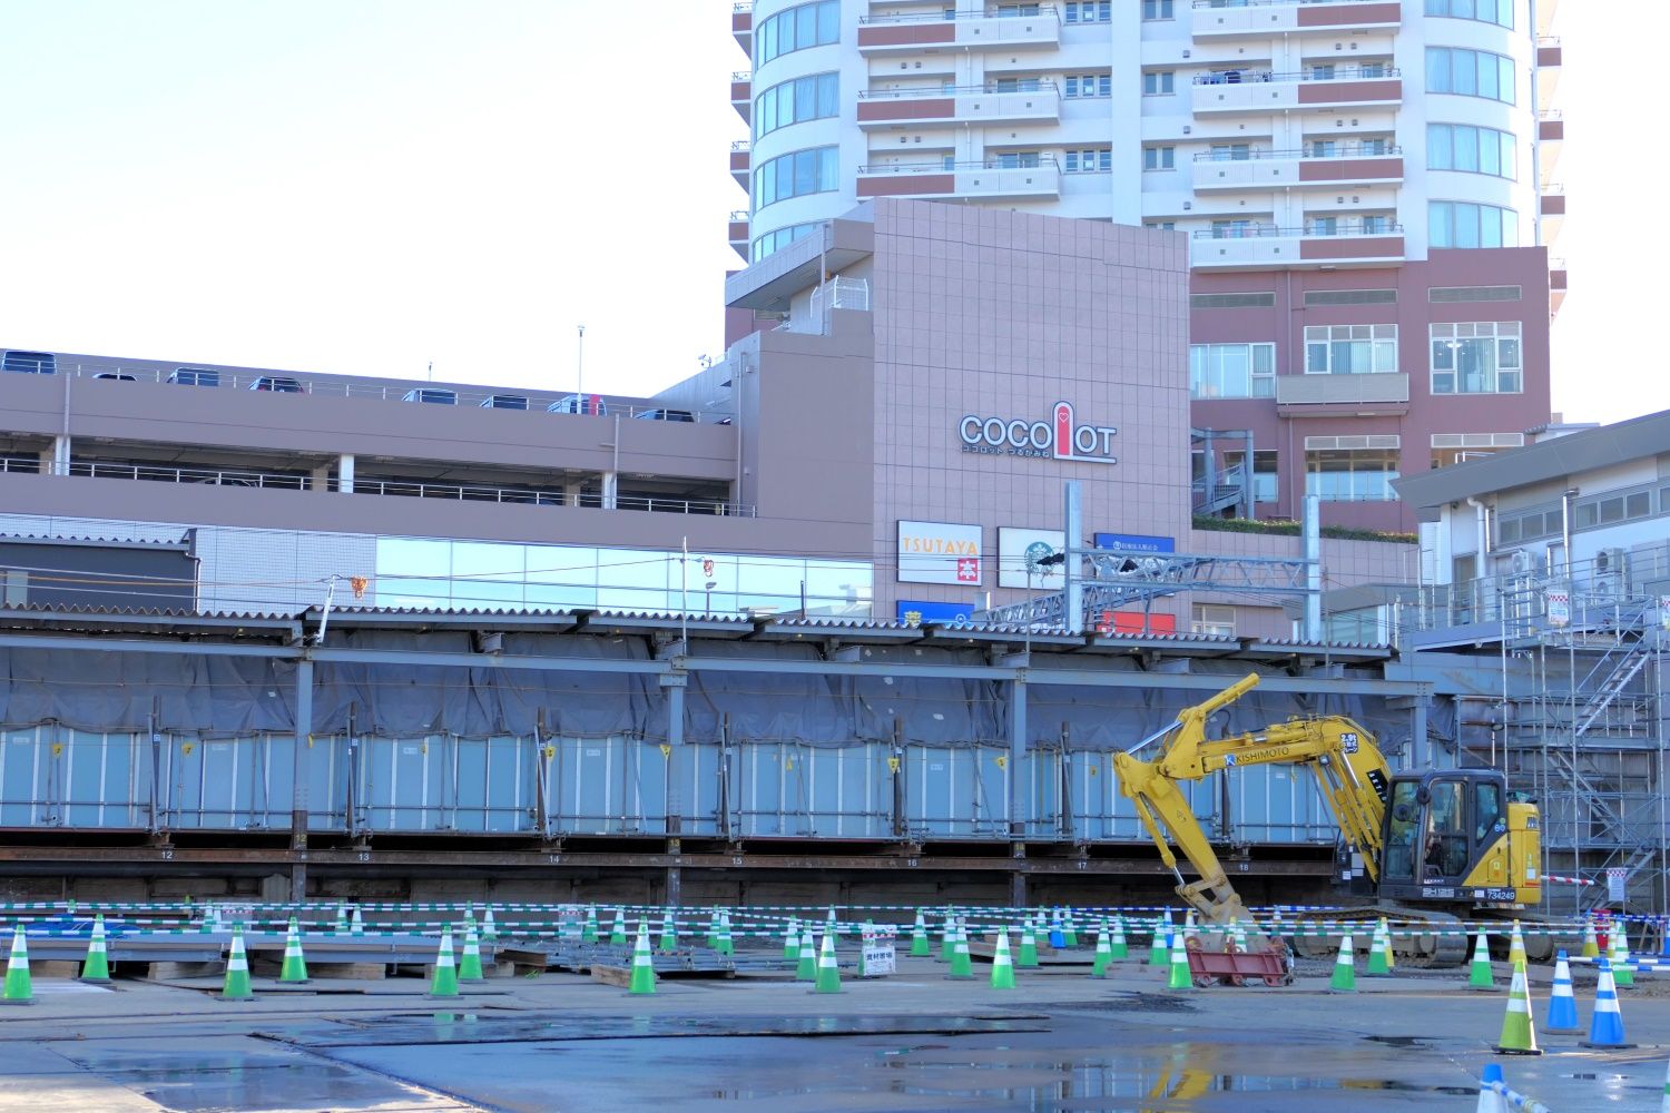
[{"label": "excavator's dark glass cab and yellow rear body, without the arm", "polygon": [[1536,901],[1536,806],[1510,799],[1496,769],[1391,779],[1379,871],[1383,901]]}]

